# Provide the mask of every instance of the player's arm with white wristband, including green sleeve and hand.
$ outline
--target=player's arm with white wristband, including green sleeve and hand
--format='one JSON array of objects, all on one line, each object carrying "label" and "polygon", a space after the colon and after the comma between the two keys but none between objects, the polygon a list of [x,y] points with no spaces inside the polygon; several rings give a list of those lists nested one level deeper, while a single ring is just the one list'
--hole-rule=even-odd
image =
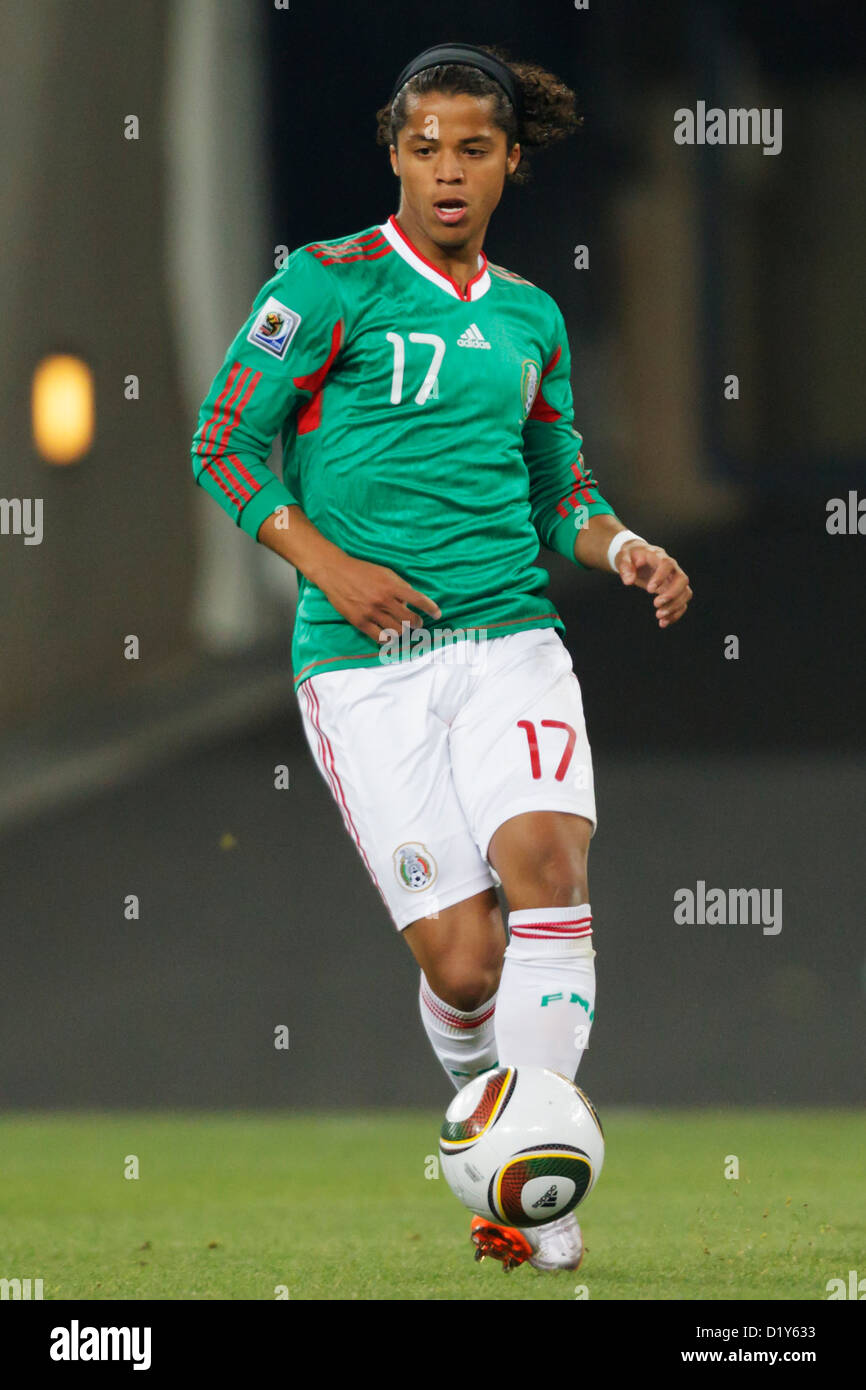
[{"label": "player's arm with white wristband, including green sleeve and hand", "polygon": [[581,569],[613,569],[623,584],[653,595],[659,627],[677,623],[692,591],[673,556],[632,532],[610,552],[613,538],[627,527],[599,492],[584,460],[582,436],[574,428],[569,336],[557,307],[553,342],[524,421],[523,439],[531,517],[542,545]]}]

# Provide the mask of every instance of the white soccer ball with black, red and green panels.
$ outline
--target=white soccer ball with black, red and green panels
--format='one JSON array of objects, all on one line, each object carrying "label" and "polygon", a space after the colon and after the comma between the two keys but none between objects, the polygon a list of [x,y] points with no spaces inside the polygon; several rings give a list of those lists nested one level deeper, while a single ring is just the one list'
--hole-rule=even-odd
[{"label": "white soccer ball with black, red and green panels", "polygon": [[455,1197],[500,1226],[544,1226],[589,1195],[605,1136],[589,1098],[559,1072],[500,1066],[448,1106],[439,1136]]}]

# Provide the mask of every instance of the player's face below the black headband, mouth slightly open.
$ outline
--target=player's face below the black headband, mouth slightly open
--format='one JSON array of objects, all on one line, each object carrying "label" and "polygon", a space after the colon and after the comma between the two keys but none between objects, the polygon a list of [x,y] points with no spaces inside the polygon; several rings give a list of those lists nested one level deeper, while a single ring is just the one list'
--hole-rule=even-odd
[{"label": "player's face below the black headband, mouth slightly open", "polygon": [[481,245],[506,172],[520,163],[520,146],[509,150],[492,104],[491,97],[445,92],[410,97],[398,149],[391,146],[400,213],[443,249]]}]

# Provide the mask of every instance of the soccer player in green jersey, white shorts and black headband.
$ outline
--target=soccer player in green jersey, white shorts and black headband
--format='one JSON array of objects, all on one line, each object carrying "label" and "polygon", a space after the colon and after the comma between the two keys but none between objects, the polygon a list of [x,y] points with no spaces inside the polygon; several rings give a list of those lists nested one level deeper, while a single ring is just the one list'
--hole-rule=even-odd
[{"label": "soccer player in green jersey, white shorts and black headband", "polygon": [[[539,542],[646,589],[659,628],[692,591],[598,491],[556,303],[482,252],[523,146],[580,124],[574,93],[498,49],[441,44],[378,122],[396,214],[299,247],[264,285],[202,406],[193,473],[297,571],[304,733],[420,966],[453,1084],[498,1065],[574,1077],[595,1015],[596,816]],[[582,1255],[574,1213],[527,1233],[475,1218],[471,1236],[506,1269]]]}]

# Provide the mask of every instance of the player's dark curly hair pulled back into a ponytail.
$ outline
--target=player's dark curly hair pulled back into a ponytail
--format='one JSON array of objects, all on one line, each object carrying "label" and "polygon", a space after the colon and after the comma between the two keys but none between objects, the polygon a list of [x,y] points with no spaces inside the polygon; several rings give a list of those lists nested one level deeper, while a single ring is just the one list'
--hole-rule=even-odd
[{"label": "player's dark curly hair pulled back into a ponytail", "polygon": [[478,44],[478,47],[493,54],[512,70],[523,99],[520,121],[503,89],[487,72],[464,63],[441,63],[435,68],[417,72],[414,78],[403,83],[393,103],[388,103],[375,113],[378,122],[375,142],[396,147],[398,133],[409,117],[410,96],[425,96],[430,92],[489,96],[493,103],[492,121],[500,131],[505,131],[507,149],[510,150],[517,142],[521,146],[520,164],[513,174],[506,174],[506,182],[527,183],[531,171],[523,153],[524,147],[546,149],[548,145],[553,145],[577,131],[584,124],[584,118],[575,111],[574,92],[553,72],[548,72],[537,63],[514,61],[500,47],[487,43]]}]

